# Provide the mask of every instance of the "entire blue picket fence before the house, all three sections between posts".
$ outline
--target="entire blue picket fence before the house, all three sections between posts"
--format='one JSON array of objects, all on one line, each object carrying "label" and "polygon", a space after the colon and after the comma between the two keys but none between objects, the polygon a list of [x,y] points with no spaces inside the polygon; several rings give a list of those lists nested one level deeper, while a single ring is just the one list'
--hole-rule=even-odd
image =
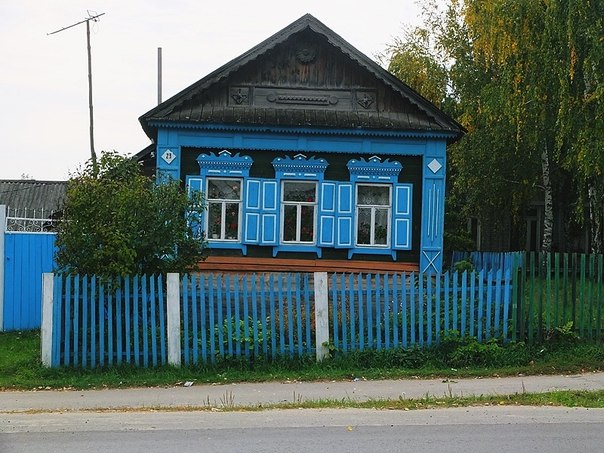
[{"label": "entire blue picket fence before the house, all three sections between posts", "polygon": [[[508,338],[509,271],[332,274],[329,342],[337,353],[428,346],[455,330]],[[179,363],[312,355],[313,274],[185,275],[178,304]],[[55,275],[52,365],[149,367],[170,355],[165,279]]]}]

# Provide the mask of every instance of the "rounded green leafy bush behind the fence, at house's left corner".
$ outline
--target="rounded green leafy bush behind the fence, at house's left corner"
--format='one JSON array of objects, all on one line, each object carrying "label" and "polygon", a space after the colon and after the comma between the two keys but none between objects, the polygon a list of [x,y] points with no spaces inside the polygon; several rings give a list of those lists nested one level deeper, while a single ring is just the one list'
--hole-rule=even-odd
[{"label": "rounded green leafy bush behind the fence, at house's left corner", "polygon": [[57,266],[104,277],[185,272],[204,258],[203,209],[178,181],[155,184],[135,160],[102,153],[67,183]]}]

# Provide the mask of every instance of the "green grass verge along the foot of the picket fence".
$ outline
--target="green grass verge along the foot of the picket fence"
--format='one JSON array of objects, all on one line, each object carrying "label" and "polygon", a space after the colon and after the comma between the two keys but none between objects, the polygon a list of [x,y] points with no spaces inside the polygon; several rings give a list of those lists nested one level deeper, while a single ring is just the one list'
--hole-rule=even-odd
[{"label": "green grass verge along the foot of the picket fence", "polygon": [[[215,365],[174,368],[44,368],[40,363],[39,331],[0,333],[0,389],[120,388],[197,383],[461,378],[576,373],[600,370],[604,345],[566,339],[527,346],[479,344],[473,339],[445,337],[439,347],[334,354],[321,364],[312,358],[220,361]],[[601,396],[599,397],[601,399]]]}]

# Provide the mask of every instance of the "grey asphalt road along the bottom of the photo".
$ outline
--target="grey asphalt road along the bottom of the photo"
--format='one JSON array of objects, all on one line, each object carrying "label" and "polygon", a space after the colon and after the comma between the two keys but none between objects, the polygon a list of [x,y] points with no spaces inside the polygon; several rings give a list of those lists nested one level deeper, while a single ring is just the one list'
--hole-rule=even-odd
[{"label": "grey asphalt road along the bottom of the photo", "polygon": [[601,452],[604,410],[62,412],[0,415],[0,452]]}]

